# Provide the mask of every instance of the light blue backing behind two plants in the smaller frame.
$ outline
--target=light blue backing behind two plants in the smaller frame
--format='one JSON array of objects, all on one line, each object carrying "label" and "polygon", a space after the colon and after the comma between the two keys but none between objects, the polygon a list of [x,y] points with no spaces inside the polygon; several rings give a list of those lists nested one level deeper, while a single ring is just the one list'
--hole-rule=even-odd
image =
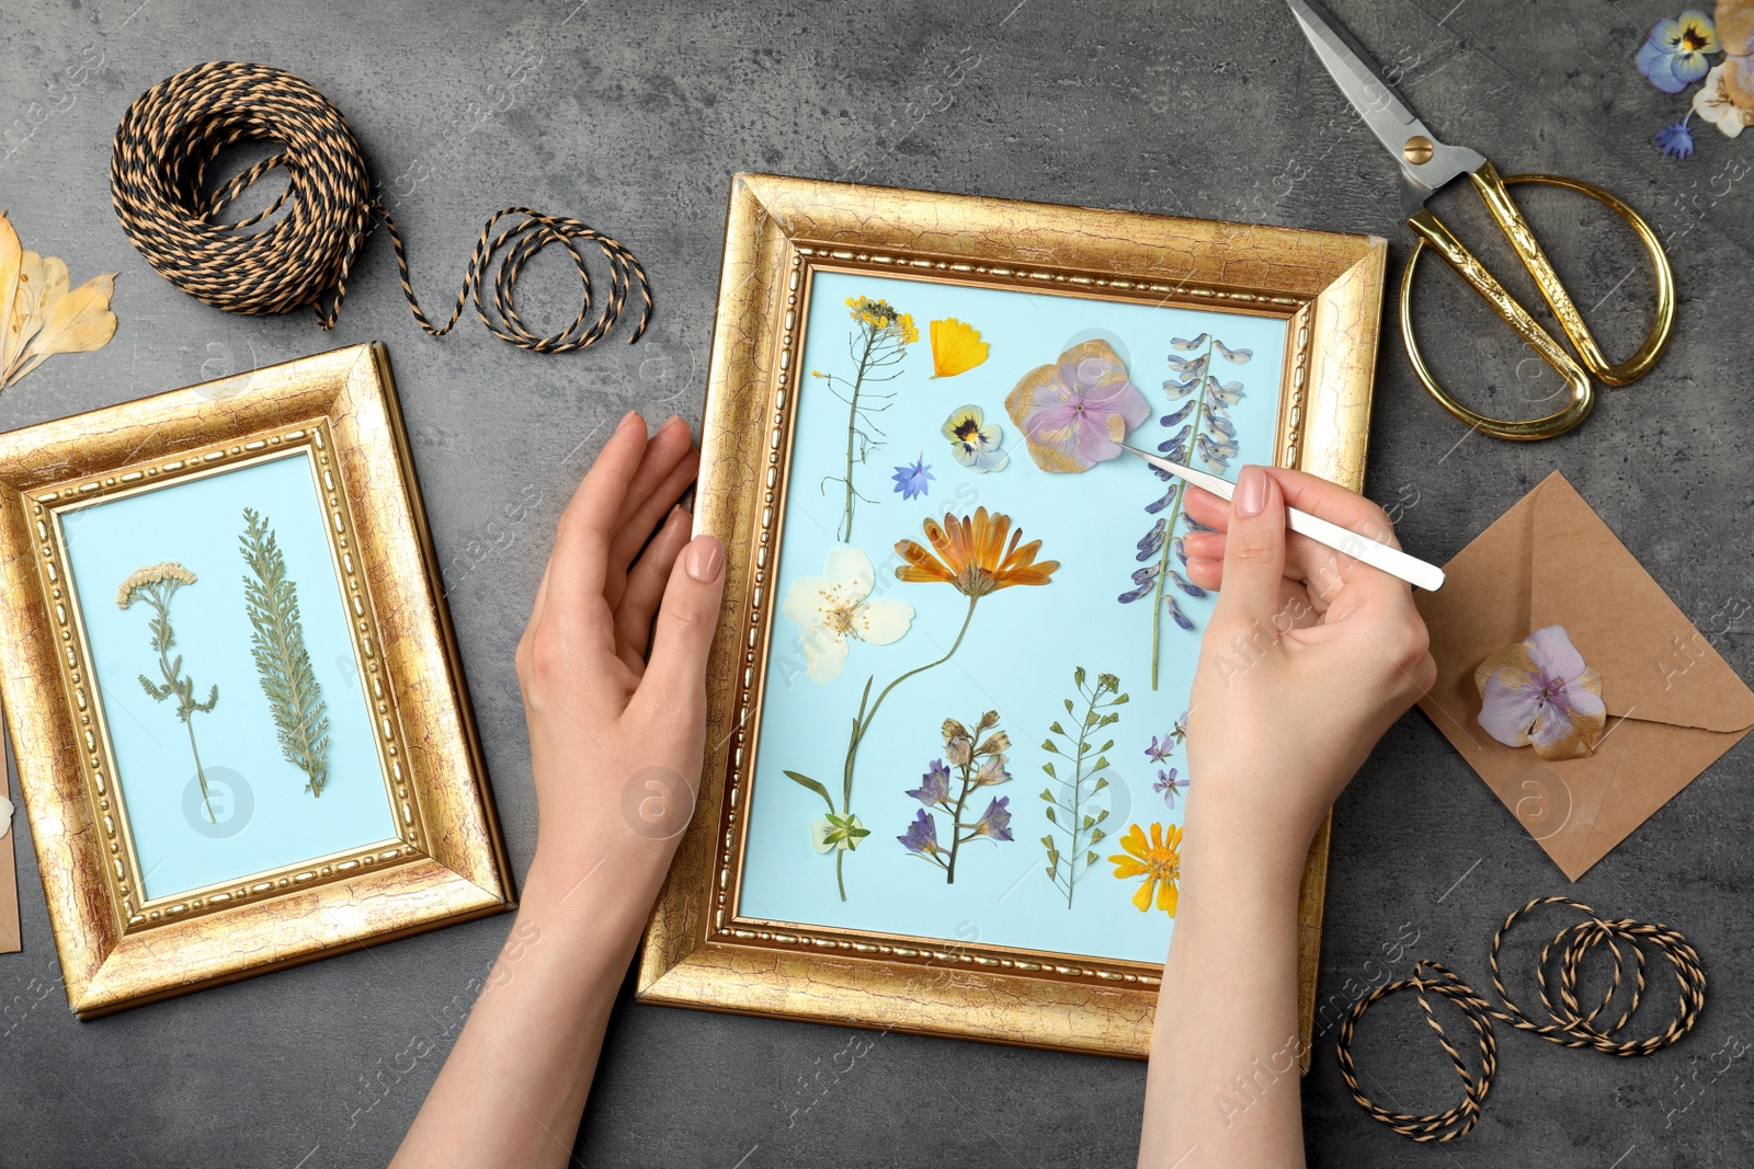
[{"label": "light blue backing behind two plants in the smaller frame", "polygon": [[[305,790],[305,773],[281,754],[249,652],[247,566],[239,552],[246,507],[267,517],[298,585],[305,648],[328,703],[330,778],[321,797]],[[395,836],[323,522],[303,452],[61,515],[147,897]],[[116,605],[128,573],[161,561],[196,575],[196,584],[170,601],[172,655],[182,654],[196,699],[219,685],[214,712],[193,719],[209,780],[219,775],[216,817],[230,836],[202,832],[186,817],[184,789],[195,778],[188,731],[175,717],[175,699],[154,703],[139,680],[144,673],[163,682],[147,631],[151,608],[142,601],[128,610]],[[247,796],[233,790],[233,776],[247,785]],[[247,824],[233,831],[232,817],[246,810]],[[205,811],[195,820],[207,825]]]}]

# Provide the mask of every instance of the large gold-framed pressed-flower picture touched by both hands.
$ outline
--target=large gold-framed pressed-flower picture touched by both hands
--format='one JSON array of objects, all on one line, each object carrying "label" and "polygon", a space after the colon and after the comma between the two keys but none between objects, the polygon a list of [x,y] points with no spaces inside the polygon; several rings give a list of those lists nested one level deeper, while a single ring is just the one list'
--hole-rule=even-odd
[{"label": "large gold-framed pressed-flower picture touched by both hands", "polygon": [[[1126,457],[1051,473],[1084,456],[1047,449],[1037,391],[1124,375],[1151,405],[1130,442],[1356,491],[1386,256],[1375,237],[737,175],[695,512],[728,554],[709,750],[638,999],[1144,1057],[1175,903],[1109,855],[1179,832],[1165,752],[1210,598],[1175,573],[1177,519],[1152,526],[1173,485]],[[873,391],[872,370],[891,380]],[[1028,529],[1037,564],[1000,575],[1047,587],[898,577],[928,542],[954,559],[966,524]],[[1061,699],[1079,724],[1121,717],[1087,766],[1077,736],[1051,747]],[[958,733],[995,720],[1007,738],[970,759]],[[1324,825],[1305,1039],[1326,861]]]}]

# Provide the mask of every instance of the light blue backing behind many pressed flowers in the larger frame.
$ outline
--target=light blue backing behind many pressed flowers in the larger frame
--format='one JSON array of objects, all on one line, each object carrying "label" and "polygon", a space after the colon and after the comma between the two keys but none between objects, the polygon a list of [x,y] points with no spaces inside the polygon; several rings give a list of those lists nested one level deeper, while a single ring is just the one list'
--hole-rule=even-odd
[{"label": "light blue backing behind many pressed flowers in the larger frame", "polygon": [[[840,484],[824,480],[845,470],[847,407],[809,372],[851,379],[849,296],[886,298],[919,328],[919,342],[898,366],[903,375],[877,387],[893,391],[895,398],[888,410],[873,415],[886,445],[854,470],[856,487],[875,503],[859,503],[852,526],[852,545],[877,568],[873,596],[903,599],[916,617],[893,645],[854,641],[840,677],[817,685],[805,673],[798,627],[777,610],[795,580],[823,573],[824,556],[837,542]],[[930,380],[928,322],[937,317],[958,317],[979,328],[991,345],[988,361],[966,373]],[[1147,762],[1145,747],[1187,706],[1200,634],[1177,627],[1165,615],[1159,689],[1152,692],[1151,598],[1133,605],[1116,601],[1131,587],[1130,577],[1140,566],[1135,545],[1154,521],[1144,507],[1159,498],[1165,485],[1131,456],[1080,475],[1038,470],[1005,414],[1005,396],[1031,368],[1100,337],[1126,361],[1133,384],[1152,407],[1152,417],[1133,431],[1131,442],[1156,449],[1170,436],[1158,426],[1158,417],[1170,410],[1161,391],[1170,377],[1170,338],[1207,331],[1231,349],[1254,351],[1252,361],[1242,366],[1214,361],[1214,373],[1226,382],[1240,380],[1247,394],[1230,410],[1242,436],[1240,454],[1230,464],[1230,477],[1235,477],[1244,463],[1273,459],[1284,321],[924,280],[816,277],[798,363],[798,421],[779,578],[770,601],[774,638],[749,803],[742,915],[952,943],[1163,960],[1170,918],[1158,910],[1140,913],[1133,908],[1130,899],[1138,880],[1116,880],[1109,855],[1119,852],[1117,838],[1131,822],[1147,829],[1152,822],[1180,822],[1182,801],[1172,811],[1152,790],[1156,764]],[[1005,470],[980,475],[951,457],[938,428],[963,403],[979,405],[989,422],[1003,428],[1010,452]],[[872,405],[884,403],[873,400]],[[893,470],[921,454],[935,477],[931,492],[903,501],[893,492]],[[847,733],[865,680],[875,677],[875,696],[896,675],[940,657],[966,612],[966,599],[947,584],[896,582],[895,542],[924,543],[923,519],[942,519],[947,510],[965,515],[980,505],[1010,515],[1024,540],[1040,538],[1040,559],[1059,561],[1059,570],[1044,587],[1010,587],[982,598],[956,657],[903,682],[884,703],[859,748],[852,787],[852,811],[872,834],[845,855],[847,901],[842,903],[833,854],[821,855],[810,847],[810,822],[826,811],[823,799],[788,780],[782,769],[821,780],[838,804]],[[1203,629],[1212,599],[1184,596],[1179,603]],[[1119,675],[1131,701],[1117,708],[1121,722],[1107,731],[1116,747],[1109,752],[1110,787],[1098,797],[1107,803],[1098,806],[1110,808],[1103,824],[1109,838],[1096,847],[1102,859],[1079,876],[1068,911],[1065,894],[1045,873],[1040,838],[1051,825],[1040,792],[1051,782],[1042,762],[1054,757],[1040,745],[1051,722],[1070,722],[1061,699],[1077,699],[1082,712],[1072,680],[1075,666],[1091,675]],[[1016,840],[963,845],[956,883],[947,885],[942,869],[907,854],[896,841],[919,810],[905,792],[919,785],[933,759],[944,755],[938,734],[944,719],[972,724],[986,710],[998,710],[1000,726],[1010,734],[1009,769],[1016,778],[980,789],[979,808],[995,796],[1009,796]],[[1187,775],[1180,750],[1170,762]],[[1066,778],[1065,761],[1059,764]],[[972,811],[977,815],[979,808]],[[940,811],[940,841],[949,840],[945,820]]]}]

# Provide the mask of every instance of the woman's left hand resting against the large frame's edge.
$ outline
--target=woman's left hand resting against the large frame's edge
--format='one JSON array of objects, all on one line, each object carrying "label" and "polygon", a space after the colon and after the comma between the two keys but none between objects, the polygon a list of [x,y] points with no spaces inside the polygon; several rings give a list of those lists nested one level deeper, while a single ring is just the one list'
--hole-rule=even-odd
[{"label": "woman's left hand resting against the large frame's edge", "polygon": [[698,464],[681,419],[645,438],[628,414],[560,517],[517,645],[540,811],[531,885],[570,889],[607,866],[638,920],[700,787],[724,549],[689,540],[677,507]]}]

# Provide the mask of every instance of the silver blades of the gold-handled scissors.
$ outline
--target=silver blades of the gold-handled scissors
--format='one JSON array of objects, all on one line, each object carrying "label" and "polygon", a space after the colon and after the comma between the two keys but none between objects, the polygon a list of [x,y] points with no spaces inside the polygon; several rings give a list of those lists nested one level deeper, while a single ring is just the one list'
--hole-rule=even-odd
[{"label": "silver blades of the gold-handled scissors", "polygon": [[[1298,18],[1303,35],[1308,37],[1316,56],[1328,68],[1340,93],[1352,103],[1384,149],[1401,168],[1407,184],[1408,202],[1424,205],[1433,191],[1456,175],[1477,170],[1486,163],[1480,154],[1458,145],[1445,145],[1437,140],[1412,107],[1401,100],[1394,86],[1382,77],[1382,70],[1365,53],[1363,46],[1352,39],[1340,21],[1312,0],[1286,0],[1291,14]],[[1424,144],[1414,142],[1424,138]],[[1412,145],[1408,145],[1412,144]],[[1431,154],[1424,161],[1412,161],[1424,154],[1421,145],[1430,145]],[[1412,158],[1410,158],[1412,156]]]}]

